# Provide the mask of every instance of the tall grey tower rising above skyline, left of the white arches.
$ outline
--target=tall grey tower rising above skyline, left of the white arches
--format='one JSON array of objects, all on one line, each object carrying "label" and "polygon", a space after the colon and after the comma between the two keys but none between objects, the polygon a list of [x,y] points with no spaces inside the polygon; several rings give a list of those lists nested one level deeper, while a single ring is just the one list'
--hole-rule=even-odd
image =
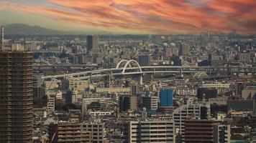
[{"label": "tall grey tower rising above skyline, left of the white arches", "polygon": [[87,39],[87,51],[92,51],[97,54],[99,49],[99,35],[86,36]]}]

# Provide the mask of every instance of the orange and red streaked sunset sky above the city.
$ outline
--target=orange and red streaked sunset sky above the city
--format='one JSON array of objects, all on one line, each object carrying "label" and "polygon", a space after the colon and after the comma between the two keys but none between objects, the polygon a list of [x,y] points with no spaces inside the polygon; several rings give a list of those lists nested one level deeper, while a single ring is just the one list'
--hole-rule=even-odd
[{"label": "orange and red streaked sunset sky above the city", "polygon": [[255,0],[0,0],[0,24],[113,34],[256,34]]}]

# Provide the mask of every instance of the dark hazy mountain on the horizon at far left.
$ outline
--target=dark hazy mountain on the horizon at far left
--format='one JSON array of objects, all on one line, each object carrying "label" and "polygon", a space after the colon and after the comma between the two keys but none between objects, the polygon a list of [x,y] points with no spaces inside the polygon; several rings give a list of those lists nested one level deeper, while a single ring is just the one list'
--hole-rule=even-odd
[{"label": "dark hazy mountain on the horizon at far left", "polygon": [[52,30],[52,29],[45,29],[40,26],[29,26],[26,24],[9,24],[4,26],[4,34],[52,35],[52,34],[63,34],[63,32]]}]

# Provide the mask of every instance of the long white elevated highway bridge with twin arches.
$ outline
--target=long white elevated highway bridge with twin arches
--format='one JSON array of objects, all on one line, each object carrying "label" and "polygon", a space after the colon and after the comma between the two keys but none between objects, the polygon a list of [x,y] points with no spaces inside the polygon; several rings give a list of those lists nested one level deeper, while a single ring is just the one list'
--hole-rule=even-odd
[{"label": "long white elevated highway bridge with twin arches", "polygon": [[[201,77],[204,74],[253,74],[256,75],[256,68],[253,66],[140,66],[135,60],[122,59],[111,69],[96,69],[92,71],[82,71],[72,74],[59,74],[42,77],[42,79],[76,77],[78,79],[90,79],[91,77],[104,77],[111,73],[113,76],[133,75],[133,74],[195,74]],[[204,74],[202,74],[204,73]]]}]

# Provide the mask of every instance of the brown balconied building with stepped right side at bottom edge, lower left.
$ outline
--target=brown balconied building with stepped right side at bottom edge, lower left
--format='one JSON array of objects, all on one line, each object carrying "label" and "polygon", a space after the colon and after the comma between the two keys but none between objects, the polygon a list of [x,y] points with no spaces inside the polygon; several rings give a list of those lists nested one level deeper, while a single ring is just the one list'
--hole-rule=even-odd
[{"label": "brown balconied building with stepped right side at bottom edge, lower left", "polygon": [[58,142],[92,142],[92,134],[81,123],[59,122]]}]

